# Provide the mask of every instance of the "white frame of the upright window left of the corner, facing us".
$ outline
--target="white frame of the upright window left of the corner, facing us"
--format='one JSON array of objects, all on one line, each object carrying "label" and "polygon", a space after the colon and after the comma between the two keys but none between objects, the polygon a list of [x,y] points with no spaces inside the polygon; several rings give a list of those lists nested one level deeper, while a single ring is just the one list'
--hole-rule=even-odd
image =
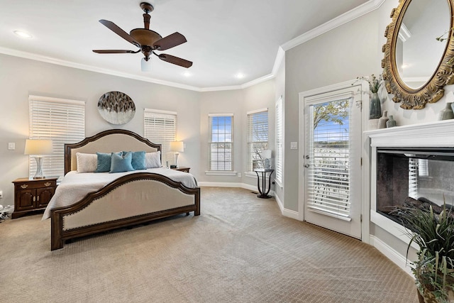
[{"label": "white frame of the upright window left of the corner, facing us", "polygon": [[[236,175],[236,172],[233,170],[233,165],[234,165],[234,162],[233,162],[233,154],[234,154],[234,143],[233,143],[233,129],[234,129],[234,115],[233,114],[209,114],[209,137],[208,137],[208,170],[205,172],[206,175]],[[230,118],[231,119],[231,131],[230,132],[224,132],[223,135],[230,135],[230,140],[227,140],[224,139],[223,141],[213,141],[213,118],[220,118],[220,117],[225,117],[225,118]],[[212,162],[213,162],[213,159],[211,158],[212,156],[212,148],[211,146],[213,144],[218,144],[218,143],[228,143],[231,145],[231,158],[230,160],[226,160],[226,159],[223,159],[221,162],[226,162],[226,163],[229,163],[230,162],[230,170],[226,170],[226,169],[219,169],[219,170],[214,170],[213,167],[212,167]],[[224,165],[224,168],[225,168],[225,165]]]}]

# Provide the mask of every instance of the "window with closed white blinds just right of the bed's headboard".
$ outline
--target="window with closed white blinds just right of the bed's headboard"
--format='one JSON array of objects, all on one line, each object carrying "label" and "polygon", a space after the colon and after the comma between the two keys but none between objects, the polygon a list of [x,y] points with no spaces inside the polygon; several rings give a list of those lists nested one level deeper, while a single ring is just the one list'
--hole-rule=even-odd
[{"label": "window with closed white blinds just right of the bed's headboard", "polygon": [[143,136],[151,142],[161,145],[162,163],[173,163],[175,154],[170,151],[170,142],[175,141],[177,133],[177,113],[145,109],[143,124]]}]

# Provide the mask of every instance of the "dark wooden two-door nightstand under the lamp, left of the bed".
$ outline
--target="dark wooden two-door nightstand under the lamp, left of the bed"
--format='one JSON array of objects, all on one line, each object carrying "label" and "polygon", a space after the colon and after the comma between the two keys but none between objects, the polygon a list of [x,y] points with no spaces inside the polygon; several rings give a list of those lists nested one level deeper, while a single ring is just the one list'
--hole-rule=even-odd
[{"label": "dark wooden two-door nightstand under the lamp, left of the bed", "polygon": [[48,206],[57,187],[57,178],[44,179],[19,178],[14,183],[14,211],[11,219],[16,219]]}]

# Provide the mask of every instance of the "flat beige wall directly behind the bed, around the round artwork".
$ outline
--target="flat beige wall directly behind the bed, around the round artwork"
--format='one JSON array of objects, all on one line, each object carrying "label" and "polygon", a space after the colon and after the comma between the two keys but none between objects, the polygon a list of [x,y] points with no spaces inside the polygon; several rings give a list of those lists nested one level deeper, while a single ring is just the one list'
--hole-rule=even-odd
[{"label": "flat beige wall directly behind the bed, around the round artwork", "polygon": [[[186,144],[179,155],[179,164],[192,167],[199,175],[199,92],[166,87],[149,82],[77,70],[19,57],[0,55],[0,204],[13,205],[13,184],[18,177],[28,176],[28,156],[23,155],[28,138],[28,95],[76,99],[86,102],[86,135],[111,128],[124,128],[143,135],[143,109],[177,111],[177,136]],[[114,126],[101,118],[97,103],[102,94],[120,91],[135,103],[134,118],[122,126]],[[8,150],[8,143],[16,150]]]}]

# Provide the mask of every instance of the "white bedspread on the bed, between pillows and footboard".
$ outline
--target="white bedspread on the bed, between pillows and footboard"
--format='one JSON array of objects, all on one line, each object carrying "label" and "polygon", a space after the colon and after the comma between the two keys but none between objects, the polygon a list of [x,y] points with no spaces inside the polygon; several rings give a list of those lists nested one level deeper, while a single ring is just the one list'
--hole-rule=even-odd
[{"label": "white bedspread on the bed, between pillows and footboard", "polygon": [[57,186],[55,194],[48,206],[46,207],[43,219],[50,218],[50,210],[61,206],[69,206],[80,201],[89,192],[96,192],[106,184],[118,179],[121,176],[133,174],[135,172],[154,172],[156,174],[165,175],[170,179],[181,182],[185,187],[197,187],[196,179],[188,172],[180,172],[178,170],[170,170],[168,168],[149,168],[148,170],[134,170],[132,172],[68,172],[62,182]]}]

